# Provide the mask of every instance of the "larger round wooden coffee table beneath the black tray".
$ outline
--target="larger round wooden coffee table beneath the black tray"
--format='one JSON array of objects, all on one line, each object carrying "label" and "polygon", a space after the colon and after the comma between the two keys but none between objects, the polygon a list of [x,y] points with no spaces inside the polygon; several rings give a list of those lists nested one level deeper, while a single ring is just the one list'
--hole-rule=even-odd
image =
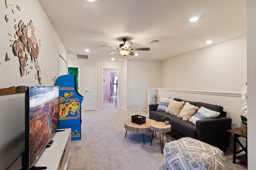
[{"label": "larger round wooden coffee table beneath the black tray", "polygon": [[146,123],[141,125],[132,123],[132,119],[128,119],[124,121],[124,129],[126,129],[125,137],[126,137],[127,131],[130,131],[132,133],[143,133],[143,143],[145,145],[144,134],[152,132],[152,130],[150,130],[150,123],[153,123],[153,122],[156,122],[156,121],[148,118],[146,118]]}]

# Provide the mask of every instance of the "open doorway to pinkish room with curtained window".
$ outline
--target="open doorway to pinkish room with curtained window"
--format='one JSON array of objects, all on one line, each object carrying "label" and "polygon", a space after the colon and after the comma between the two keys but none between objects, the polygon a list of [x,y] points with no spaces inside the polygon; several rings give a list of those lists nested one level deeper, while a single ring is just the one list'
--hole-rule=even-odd
[{"label": "open doorway to pinkish room with curtained window", "polygon": [[118,107],[118,68],[102,68],[103,76],[103,105]]}]

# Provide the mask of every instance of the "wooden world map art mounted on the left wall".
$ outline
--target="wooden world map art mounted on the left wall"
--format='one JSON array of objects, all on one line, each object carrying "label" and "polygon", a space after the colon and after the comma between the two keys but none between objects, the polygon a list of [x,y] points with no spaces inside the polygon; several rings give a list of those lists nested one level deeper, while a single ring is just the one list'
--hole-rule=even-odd
[{"label": "wooden world map art mounted on the left wall", "polygon": [[[20,12],[21,8],[17,5],[16,9],[14,7],[14,0],[6,0],[6,7],[7,8],[14,8],[11,9],[12,13],[14,14],[16,11]],[[10,39],[10,47],[12,48],[12,52],[14,56],[17,56],[20,62],[20,76],[28,76],[30,72],[33,72],[35,69],[35,78],[38,80],[39,85],[42,83],[41,78],[41,69],[38,63],[39,57],[39,47],[41,41],[41,33],[37,30],[37,28],[33,25],[32,20],[29,23],[24,23],[20,20],[16,23],[16,20],[11,21],[9,20],[8,16],[5,15],[3,18],[6,20],[8,24],[14,25],[14,30],[10,30],[11,32],[7,33],[11,38]],[[12,36],[14,35],[14,36]],[[4,56],[4,61],[12,62],[12,56],[6,52]],[[4,64],[4,63],[0,63]],[[9,88],[2,88],[0,89],[0,95],[6,94],[15,94],[15,93],[22,93],[26,91],[26,86],[12,86]]]}]

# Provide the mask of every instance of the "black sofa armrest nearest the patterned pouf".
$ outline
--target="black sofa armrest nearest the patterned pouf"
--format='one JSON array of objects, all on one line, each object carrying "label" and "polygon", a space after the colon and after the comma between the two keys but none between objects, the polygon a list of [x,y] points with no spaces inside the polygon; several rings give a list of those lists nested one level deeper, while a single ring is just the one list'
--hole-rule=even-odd
[{"label": "black sofa armrest nearest the patterned pouf", "polygon": [[229,146],[232,119],[218,117],[196,121],[196,139],[226,151]]}]

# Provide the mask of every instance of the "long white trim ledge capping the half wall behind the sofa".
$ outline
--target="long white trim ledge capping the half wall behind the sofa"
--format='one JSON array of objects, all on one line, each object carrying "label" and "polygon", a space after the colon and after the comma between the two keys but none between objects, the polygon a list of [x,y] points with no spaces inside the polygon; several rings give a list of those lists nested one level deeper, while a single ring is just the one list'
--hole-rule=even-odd
[{"label": "long white trim ledge capping the half wall behind the sofa", "polygon": [[241,98],[240,92],[218,92],[218,91],[203,91],[203,90],[182,90],[182,89],[167,89],[167,88],[147,88],[148,91],[165,91],[178,93],[205,94],[214,96],[229,96]]}]

